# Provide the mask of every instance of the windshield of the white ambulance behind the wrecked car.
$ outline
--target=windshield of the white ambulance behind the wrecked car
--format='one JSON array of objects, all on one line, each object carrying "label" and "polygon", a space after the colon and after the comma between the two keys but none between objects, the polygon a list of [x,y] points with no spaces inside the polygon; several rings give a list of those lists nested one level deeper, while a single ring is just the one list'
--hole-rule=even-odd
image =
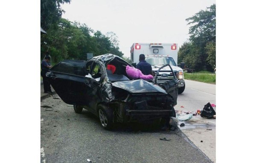
[{"label": "windshield of the white ambulance behind the wrecked car", "polygon": [[164,57],[164,56],[148,56],[145,57],[145,61],[148,62],[150,65],[173,65],[176,66],[175,61],[172,57]]}]

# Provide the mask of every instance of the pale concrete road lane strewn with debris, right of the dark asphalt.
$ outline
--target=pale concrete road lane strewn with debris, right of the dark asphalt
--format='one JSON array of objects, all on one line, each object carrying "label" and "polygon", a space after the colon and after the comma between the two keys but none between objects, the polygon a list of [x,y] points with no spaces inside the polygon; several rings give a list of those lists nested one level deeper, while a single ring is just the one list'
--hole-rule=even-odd
[{"label": "pale concrete road lane strewn with debris, right of the dark asphalt", "polygon": [[[216,104],[215,84],[207,84],[185,80],[186,88],[178,95],[175,110],[196,112],[203,110],[208,102]],[[216,112],[216,107],[213,107]],[[181,131],[192,141],[207,157],[216,162],[216,119],[193,116],[188,121],[180,121],[184,127]],[[202,141],[202,142],[201,142]]]}]

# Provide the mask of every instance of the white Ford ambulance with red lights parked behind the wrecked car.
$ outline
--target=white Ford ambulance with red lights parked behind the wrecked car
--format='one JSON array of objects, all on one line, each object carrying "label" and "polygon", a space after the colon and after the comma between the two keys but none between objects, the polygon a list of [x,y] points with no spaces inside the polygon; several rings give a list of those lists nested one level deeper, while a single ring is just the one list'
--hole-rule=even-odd
[{"label": "white Ford ambulance with red lights parked behind the wrecked car", "polygon": [[[174,71],[179,84],[178,93],[183,93],[185,90],[185,82],[183,70],[177,66],[178,59],[178,45],[175,43],[133,43],[131,46],[131,60],[132,65],[136,67],[139,63],[140,54],[145,55],[145,61],[152,66],[154,77],[157,70],[163,65],[169,64]],[[157,74],[159,83],[168,82],[173,78],[172,71],[169,66],[164,67]]]}]

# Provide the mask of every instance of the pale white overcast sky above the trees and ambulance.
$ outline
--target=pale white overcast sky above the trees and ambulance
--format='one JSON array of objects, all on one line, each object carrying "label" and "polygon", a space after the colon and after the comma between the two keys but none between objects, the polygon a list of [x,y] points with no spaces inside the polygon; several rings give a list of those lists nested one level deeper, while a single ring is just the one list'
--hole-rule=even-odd
[{"label": "pale white overcast sky above the trees and ambulance", "polygon": [[85,23],[94,31],[113,31],[124,56],[135,42],[177,43],[189,38],[186,18],[216,0],[72,0],[63,18]]}]

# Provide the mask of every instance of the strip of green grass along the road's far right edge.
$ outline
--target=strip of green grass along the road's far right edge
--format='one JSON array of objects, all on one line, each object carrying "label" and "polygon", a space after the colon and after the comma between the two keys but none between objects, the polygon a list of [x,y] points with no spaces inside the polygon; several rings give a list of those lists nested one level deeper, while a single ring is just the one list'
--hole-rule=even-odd
[{"label": "strip of green grass along the road's far right edge", "polygon": [[[200,73],[201,72],[201,73]],[[184,73],[184,79],[194,80],[198,82],[216,84],[216,75],[214,73],[202,73],[200,71],[197,73]]]}]

